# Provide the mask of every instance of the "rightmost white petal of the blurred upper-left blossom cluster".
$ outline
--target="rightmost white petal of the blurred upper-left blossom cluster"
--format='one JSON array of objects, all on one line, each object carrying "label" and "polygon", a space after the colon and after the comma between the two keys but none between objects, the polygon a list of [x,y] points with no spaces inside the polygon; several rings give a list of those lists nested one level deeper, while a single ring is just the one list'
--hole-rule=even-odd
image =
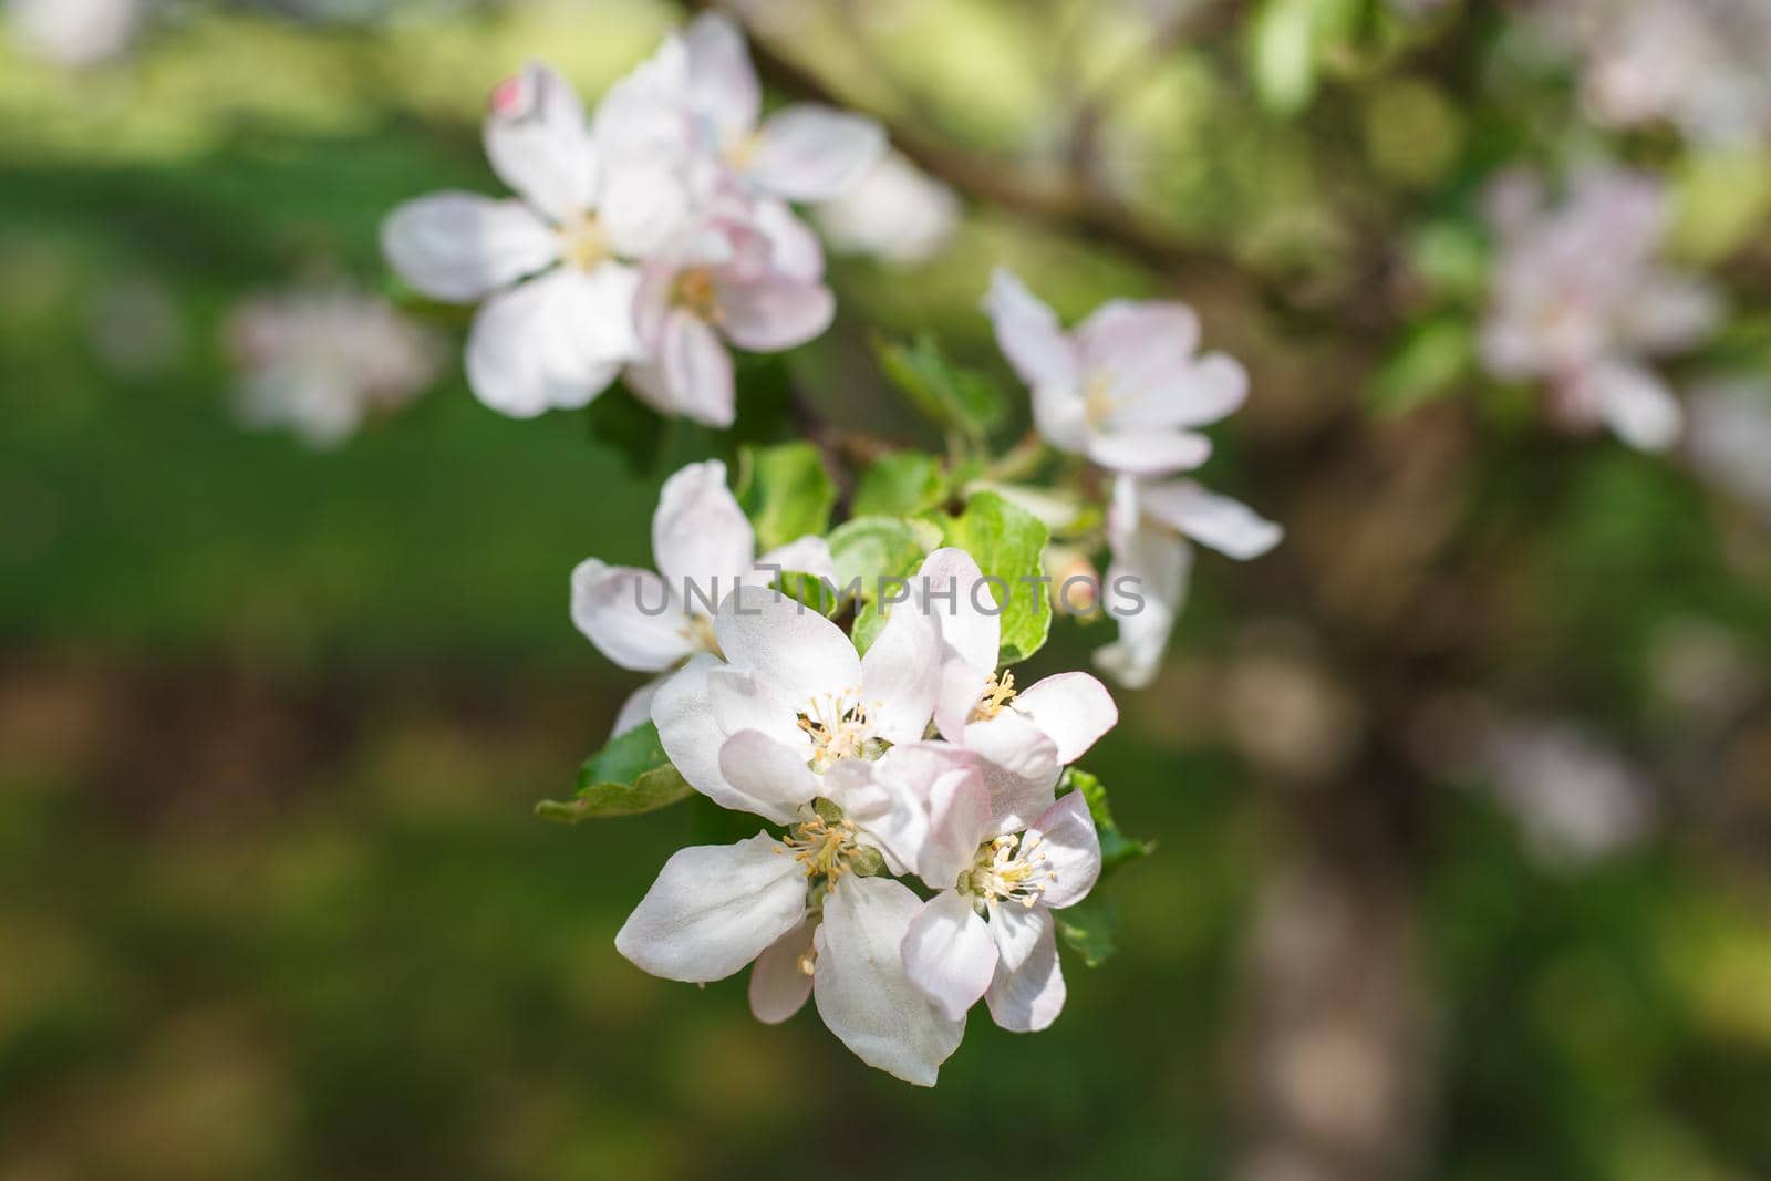
[{"label": "rightmost white petal of the blurred upper-left blossom cluster", "polygon": [[831,246],[900,266],[928,262],[960,227],[960,198],[898,152],[813,211]]}]

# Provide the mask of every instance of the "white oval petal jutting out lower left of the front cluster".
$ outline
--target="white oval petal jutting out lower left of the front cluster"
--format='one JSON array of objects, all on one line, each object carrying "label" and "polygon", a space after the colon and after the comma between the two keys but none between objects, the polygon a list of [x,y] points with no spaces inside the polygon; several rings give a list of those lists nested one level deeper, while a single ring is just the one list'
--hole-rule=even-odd
[{"label": "white oval petal jutting out lower left of the front cluster", "polygon": [[737,845],[696,845],[664,862],[615,947],[673,981],[717,981],[806,919],[806,871],[758,832]]}]

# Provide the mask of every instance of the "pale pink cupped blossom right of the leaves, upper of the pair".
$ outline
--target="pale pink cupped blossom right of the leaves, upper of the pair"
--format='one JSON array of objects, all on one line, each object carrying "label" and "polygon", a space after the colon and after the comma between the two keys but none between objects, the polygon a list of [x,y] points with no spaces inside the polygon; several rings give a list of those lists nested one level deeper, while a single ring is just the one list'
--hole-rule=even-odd
[{"label": "pale pink cupped blossom right of the leaves, upper of the pair", "polygon": [[1032,391],[1040,434],[1112,471],[1197,467],[1211,441],[1195,428],[1234,413],[1249,395],[1236,359],[1195,354],[1199,320],[1179,303],[1114,299],[1066,333],[1052,308],[999,267],[985,312]]}]

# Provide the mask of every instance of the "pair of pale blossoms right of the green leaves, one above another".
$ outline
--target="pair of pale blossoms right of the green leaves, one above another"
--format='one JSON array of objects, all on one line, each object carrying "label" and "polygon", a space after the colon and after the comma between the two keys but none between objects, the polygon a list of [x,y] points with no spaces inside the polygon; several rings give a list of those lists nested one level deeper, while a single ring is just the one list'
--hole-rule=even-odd
[{"label": "pair of pale blossoms right of the green leaves, one above another", "polygon": [[1210,459],[1211,441],[1199,428],[1241,407],[1249,374],[1222,352],[1197,352],[1199,317],[1181,303],[1112,299],[1066,333],[1050,306],[997,271],[985,312],[1032,393],[1040,434],[1112,476],[1107,583],[1132,579],[1144,604],[1119,616],[1119,641],[1096,660],[1142,689],[1162,666],[1187,597],[1188,538],[1241,561],[1284,538],[1245,505],[1176,478]]}]

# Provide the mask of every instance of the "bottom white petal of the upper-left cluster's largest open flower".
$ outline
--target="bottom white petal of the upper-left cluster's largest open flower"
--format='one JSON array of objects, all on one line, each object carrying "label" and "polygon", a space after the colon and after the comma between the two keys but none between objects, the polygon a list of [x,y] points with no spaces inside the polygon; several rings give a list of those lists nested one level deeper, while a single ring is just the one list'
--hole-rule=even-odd
[{"label": "bottom white petal of the upper-left cluster's largest open flower", "polygon": [[632,326],[599,326],[597,319],[613,313],[620,276],[588,280],[553,271],[480,306],[466,356],[468,384],[480,402],[512,418],[535,418],[588,405],[615,381],[620,354],[600,345],[616,331],[630,338]]}]

